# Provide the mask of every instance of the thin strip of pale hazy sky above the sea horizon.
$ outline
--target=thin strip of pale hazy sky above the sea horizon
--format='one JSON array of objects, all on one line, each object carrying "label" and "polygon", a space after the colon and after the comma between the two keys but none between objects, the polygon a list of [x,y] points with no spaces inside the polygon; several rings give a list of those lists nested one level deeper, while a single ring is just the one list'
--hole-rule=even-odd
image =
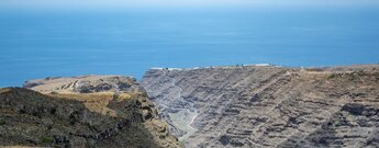
[{"label": "thin strip of pale hazy sky above the sea horizon", "polygon": [[378,3],[379,0],[1,0],[0,8],[372,7]]}]

